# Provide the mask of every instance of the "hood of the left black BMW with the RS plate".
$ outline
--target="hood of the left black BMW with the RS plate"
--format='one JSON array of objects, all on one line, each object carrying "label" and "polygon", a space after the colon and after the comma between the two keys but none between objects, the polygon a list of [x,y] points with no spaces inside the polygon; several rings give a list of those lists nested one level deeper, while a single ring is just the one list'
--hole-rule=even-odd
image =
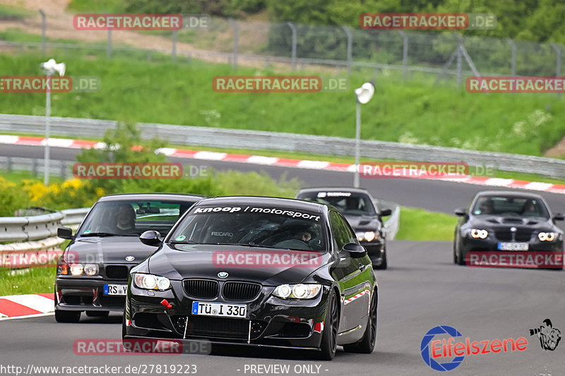
[{"label": "hood of the left black BMW with the RS plate", "polygon": [[[137,265],[155,250],[157,247],[141,243],[137,236],[92,236],[76,238],[66,253],[78,257],[79,262]],[[126,261],[126,256],[134,260]]]}]

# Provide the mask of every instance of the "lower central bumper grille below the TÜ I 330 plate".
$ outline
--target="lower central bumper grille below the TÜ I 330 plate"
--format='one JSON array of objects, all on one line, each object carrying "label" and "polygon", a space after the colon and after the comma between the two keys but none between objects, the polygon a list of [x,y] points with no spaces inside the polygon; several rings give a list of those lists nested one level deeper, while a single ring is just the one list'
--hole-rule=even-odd
[{"label": "lower central bumper grille below the T\u00dc I 330 plate", "polygon": [[[184,335],[186,316],[173,316],[171,322],[179,334]],[[251,338],[263,333],[267,323],[251,320]],[[223,317],[190,316],[186,336],[205,336],[225,339],[247,339],[249,336],[249,320]]]}]

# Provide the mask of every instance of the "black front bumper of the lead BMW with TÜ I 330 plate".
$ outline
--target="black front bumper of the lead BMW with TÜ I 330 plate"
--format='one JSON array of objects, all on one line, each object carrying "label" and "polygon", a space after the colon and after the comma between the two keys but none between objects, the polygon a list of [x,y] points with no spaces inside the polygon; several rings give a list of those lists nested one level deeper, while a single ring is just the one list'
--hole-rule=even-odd
[{"label": "black front bumper of the lead BMW with T\u00dc I 330 plate", "polygon": [[[269,286],[263,286],[253,301],[226,301],[220,297],[192,298],[184,293],[182,281],[171,281],[171,284],[172,289],[168,291],[145,291],[130,284],[126,298],[126,338],[190,339],[215,344],[308,349],[320,346],[329,286],[323,286],[316,298],[304,301],[285,301],[271,296],[274,287]],[[160,303],[163,299],[172,304],[172,309]],[[194,301],[245,304],[247,317],[193,315]]]}]

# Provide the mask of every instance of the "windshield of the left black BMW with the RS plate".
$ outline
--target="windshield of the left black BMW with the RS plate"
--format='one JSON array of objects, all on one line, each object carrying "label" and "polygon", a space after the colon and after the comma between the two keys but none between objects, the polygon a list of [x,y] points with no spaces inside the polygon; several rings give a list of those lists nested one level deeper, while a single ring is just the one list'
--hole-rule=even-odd
[{"label": "windshield of the left black BMW with the RS plate", "polygon": [[138,236],[155,230],[167,234],[194,202],[120,200],[98,202],[78,236]]}]

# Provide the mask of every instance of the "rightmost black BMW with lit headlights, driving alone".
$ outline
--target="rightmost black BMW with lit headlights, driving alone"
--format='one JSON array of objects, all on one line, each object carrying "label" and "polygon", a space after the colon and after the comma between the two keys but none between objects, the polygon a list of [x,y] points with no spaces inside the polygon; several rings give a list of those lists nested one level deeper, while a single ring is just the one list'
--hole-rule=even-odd
[{"label": "rightmost black BMW with lit headlights, driving alone", "polygon": [[518,191],[486,190],[477,193],[460,217],[453,240],[453,262],[465,265],[472,251],[563,252],[563,231],[540,195]]}]

